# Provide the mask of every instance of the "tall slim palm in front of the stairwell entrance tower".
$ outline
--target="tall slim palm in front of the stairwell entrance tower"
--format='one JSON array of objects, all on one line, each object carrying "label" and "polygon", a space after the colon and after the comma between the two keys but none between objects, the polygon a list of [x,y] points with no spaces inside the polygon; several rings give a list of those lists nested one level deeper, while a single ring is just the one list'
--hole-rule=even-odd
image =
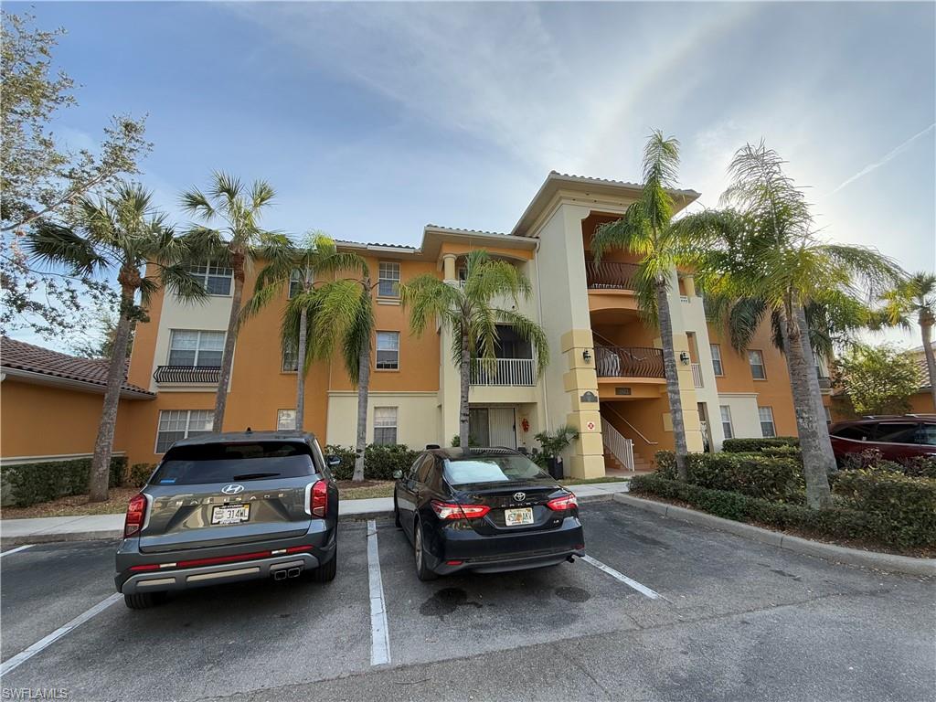
[{"label": "tall slim palm in front of the stairwell entrance tower", "polygon": [[689,470],[689,451],[682,420],[673,320],[668,303],[672,271],[679,263],[678,241],[670,227],[674,209],[670,191],[676,183],[680,165],[679,148],[677,139],[665,139],[662,132],[654,130],[644,147],[644,184],[640,198],[627,208],[621,219],[595,229],[592,251],[596,263],[607,249],[623,249],[640,256],[635,276],[637,306],[649,324],[660,328],[666,395],[676,443],[676,470],[680,480],[685,480]]}]

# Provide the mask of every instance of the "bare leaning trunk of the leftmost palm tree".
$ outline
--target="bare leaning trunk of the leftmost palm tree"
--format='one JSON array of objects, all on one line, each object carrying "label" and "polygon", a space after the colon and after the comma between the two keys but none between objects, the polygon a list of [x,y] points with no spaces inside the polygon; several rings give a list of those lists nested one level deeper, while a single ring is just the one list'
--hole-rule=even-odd
[{"label": "bare leaning trunk of the leftmost palm tree", "polygon": [[[139,272],[137,274],[139,277]],[[108,366],[108,385],[104,391],[104,406],[101,409],[101,423],[97,427],[95,456],[91,460],[91,475],[88,481],[88,499],[90,502],[106,502],[108,483],[110,482],[110,455],[113,453],[114,428],[117,425],[117,410],[120,406],[120,388],[124,385],[126,369],[126,345],[130,338],[133,323],[130,314],[136,290],[128,285],[122,286],[120,316],[117,319],[117,331],[114,334],[113,348],[110,349]]]}]

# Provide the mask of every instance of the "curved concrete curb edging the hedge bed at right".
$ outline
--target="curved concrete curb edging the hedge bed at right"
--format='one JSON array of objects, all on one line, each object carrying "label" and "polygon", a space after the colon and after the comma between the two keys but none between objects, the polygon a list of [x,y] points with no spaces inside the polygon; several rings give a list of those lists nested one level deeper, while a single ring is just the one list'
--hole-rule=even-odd
[{"label": "curved concrete curb edging the hedge bed at right", "polygon": [[933,558],[911,558],[910,556],[897,556],[891,553],[878,553],[877,551],[865,551],[860,548],[846,548],[836,546],[835,544],[825,544],[821,541],[811,541],[799,536],[773,532],[769,529],[745,524],[741,521],[732,521],[723,519],[714,515],[698,512],[695,509],[687,509],[677,505],[668,505],[667,503],[654,502],[639,497],[632,497],[622,493],[614,495],[614,501],[622,505],[630,505],[637,509],[643,509],[663,517],[681,519],[698,526],[717,529],[729,534],[743,536],[744,538],[760,541],[762,544],[775,546],[777,548],[786,548],[797,553],[805,553],[809,556],[818,556],[827,561],[836,563],[847,563],[849,565],[860,565],[865,568],[875,568],[893,573],[906,573],[912,576],[936,576],[936,559]]}]

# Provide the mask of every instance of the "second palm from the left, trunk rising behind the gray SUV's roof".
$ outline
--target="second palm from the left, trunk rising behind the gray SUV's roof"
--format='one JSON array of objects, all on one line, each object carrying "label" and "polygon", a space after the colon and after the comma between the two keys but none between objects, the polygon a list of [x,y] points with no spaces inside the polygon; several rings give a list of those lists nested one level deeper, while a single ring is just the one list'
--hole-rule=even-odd
[{"label": "second palm from the left, trunk rising behind the gray SUV's roof", "polygon": [[196,188],[183,193],[181,197],[183,210],[201,222],[200,225],[189,227],[184,235],[193,256],[234,272],[234,290],[221,356],[212,431],[222,431],[225,422],[227,386],[234,360],[234,342],[241,317],[247,267],[257,258],[273,261],[290,255],[285,236],[259,226],[260,215],[270,205],[273,196],[269,183],[255,181],[248,190],[237,178],[215,171],[207,194]]}]

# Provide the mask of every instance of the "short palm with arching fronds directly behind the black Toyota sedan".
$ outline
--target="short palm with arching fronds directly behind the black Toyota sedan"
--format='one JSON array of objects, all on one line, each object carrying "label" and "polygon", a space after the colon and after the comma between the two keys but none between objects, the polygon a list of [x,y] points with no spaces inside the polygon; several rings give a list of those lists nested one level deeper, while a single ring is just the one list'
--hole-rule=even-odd
[{"label": "short palm with arching fronds directly behind the black Toyota sedan", "polygon": [[532,319],[497,307],[497,298],[529,298],[530,281],[504,260],[491,258],[487,251],[475,250],[466,256],[467,277],[464,285],[450,285],[431,273],[419,275],[401,285],[400,297],[409,308],[410,329],[421,336],[436,319],[452,333],[452,359],[461,373],[459,410],[460,446],[469,446],[468,392],[471,387],[471,361],[482,364],[496,358],[497,325],[513,327],[520,339],[533,345],[536,371],[541,373],[549,362],[546,332]]}]

